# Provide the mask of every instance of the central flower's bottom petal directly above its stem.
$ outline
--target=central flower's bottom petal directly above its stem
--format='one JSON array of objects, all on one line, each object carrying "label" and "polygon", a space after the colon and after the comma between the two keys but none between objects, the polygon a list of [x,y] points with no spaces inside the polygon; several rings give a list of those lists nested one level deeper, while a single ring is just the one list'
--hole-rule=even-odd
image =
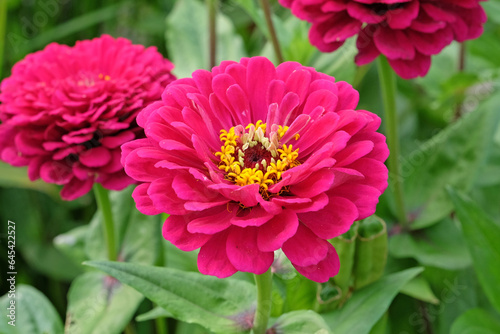
[{"label": "central flower's bottom petal directly above its stem", "polygon": [[226,252],[237,270],[260,275],[271,267],[274,253],[259,250],[257,233],[258,229],[255,227],[232,227],[227,237]]}]

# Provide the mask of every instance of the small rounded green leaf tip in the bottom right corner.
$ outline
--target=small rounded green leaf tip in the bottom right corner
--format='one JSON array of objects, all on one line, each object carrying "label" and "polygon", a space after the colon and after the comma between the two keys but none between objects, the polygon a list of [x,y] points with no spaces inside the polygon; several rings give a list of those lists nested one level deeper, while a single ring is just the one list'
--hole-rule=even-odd
[{"label": "small rounded green leaf tip in the bottom right corner", "polygon": [[498,334],[500,320],[483,309],[471,309],[462,314],[451,326],[450,334]]}]

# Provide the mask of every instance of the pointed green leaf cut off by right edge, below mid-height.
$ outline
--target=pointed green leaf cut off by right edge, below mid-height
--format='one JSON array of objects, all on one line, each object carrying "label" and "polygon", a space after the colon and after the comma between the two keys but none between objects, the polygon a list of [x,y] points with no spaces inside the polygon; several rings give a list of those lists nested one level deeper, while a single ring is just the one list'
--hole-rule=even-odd
[{"label": "pointed green leaf cut off by right edge, below mid-height", "polygon": [[470,199],[453,189],[450,197],[467,245],[474,259],[479,282],[491,304],[500,312],[500,224],[486,216]]}]

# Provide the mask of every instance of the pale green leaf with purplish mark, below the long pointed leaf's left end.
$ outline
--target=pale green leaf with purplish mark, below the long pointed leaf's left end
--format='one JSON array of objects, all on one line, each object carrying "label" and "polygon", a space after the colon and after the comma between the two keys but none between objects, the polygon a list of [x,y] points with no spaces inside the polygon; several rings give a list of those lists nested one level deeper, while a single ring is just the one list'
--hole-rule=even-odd
[{"label": "pale green leaf with purplish mark, below the long pointed leaf's left end", "polygon": [[131,287],[102,273],[78,276],[68,292],[66,333],[121,333],[142,299]]}]

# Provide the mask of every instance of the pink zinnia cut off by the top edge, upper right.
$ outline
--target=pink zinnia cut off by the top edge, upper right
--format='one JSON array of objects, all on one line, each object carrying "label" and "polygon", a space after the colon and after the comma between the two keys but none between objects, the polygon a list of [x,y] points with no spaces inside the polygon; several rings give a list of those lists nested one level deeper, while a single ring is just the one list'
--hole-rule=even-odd
[{"label": "pink zinnia cut off by the top edge, upper right", "polygon": [[479,37],[484,0],[279,0],[312,23],[309,39],[322,52],[338,49],[358,35],[356,64],[385,55],[405,79],[425,76],[431,56],[453,40]]}]

